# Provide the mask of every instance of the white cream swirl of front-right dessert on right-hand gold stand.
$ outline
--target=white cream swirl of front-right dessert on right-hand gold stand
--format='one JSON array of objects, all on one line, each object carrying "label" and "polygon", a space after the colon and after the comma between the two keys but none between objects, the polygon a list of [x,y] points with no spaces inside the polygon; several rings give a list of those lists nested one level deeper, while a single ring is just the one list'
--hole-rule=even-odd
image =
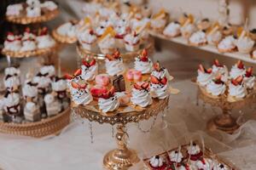
[{"label": "white cream swirl of front-right dessert on right-hand gold stand", "polygon": [[229,84],[229,94],[230,96],[236,97],[236,98],[244,98],[247,95],[247,88],[244,84],[244,82],[241,82],[241,85],[235,86],[232,82]]}]

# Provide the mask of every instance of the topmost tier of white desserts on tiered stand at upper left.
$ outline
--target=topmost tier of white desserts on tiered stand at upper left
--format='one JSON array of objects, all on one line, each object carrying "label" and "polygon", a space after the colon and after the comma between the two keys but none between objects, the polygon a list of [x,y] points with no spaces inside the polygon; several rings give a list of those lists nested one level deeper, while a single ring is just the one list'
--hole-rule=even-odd
[{"label": "topmost tier of white desserts on tiered stand at upper left", "polygon": [[6,10],[6,20],[28,25],[53,20],[58,14],[58,5],[53,1],[41,3],[39,0],[26,0],[25,3],[10,4]]}]

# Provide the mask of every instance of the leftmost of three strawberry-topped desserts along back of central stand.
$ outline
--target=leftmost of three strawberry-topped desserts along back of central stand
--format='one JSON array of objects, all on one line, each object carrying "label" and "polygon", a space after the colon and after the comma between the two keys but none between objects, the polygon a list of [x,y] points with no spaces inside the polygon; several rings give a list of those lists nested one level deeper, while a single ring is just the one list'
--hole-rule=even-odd
[{"label": "leftmost of three strawberry-topped desserts along back of central stand", "polygon": [[81,66],[82,74],[81,77],[85,81],[92,81],[95,79],[98,73],[98,64],[96,59],[85,59],[82,60],[83,65]]}]

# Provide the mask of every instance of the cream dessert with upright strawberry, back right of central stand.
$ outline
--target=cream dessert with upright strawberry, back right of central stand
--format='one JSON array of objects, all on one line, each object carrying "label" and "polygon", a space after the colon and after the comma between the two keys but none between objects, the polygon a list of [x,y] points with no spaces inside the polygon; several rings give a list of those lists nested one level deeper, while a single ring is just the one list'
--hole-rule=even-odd
[{"label": "cream dessert with upright strawberry, back right of central stand", "polygon": [[148,58],[148,52],[143,49],[142,54],[135,58],[134,69],[141,71],[143,74],[148,74],[152,71],[153,63],[151,59]]}]

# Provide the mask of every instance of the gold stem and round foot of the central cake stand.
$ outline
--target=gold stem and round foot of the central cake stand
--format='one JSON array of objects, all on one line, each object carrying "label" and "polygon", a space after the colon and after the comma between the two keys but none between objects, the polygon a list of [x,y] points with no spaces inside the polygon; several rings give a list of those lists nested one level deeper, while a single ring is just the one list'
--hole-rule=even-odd
[{"label": "gold stem and round foot of the central cake stand", "polygon": [[135,150],[129,150],[125,144],[125,125],[117,126],[116,140],[118,149],[109,151],[103,159],[103,166],[108,170],[126,170],[139,160]]}]

